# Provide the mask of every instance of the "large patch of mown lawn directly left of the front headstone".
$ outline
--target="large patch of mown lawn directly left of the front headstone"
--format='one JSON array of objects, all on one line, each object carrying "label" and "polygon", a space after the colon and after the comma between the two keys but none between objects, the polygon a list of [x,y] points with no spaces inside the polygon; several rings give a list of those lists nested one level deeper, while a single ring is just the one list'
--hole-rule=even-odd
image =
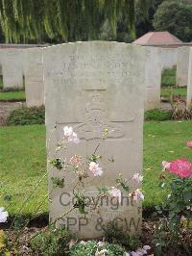
[{"label": "large patch of mown lawn directly left of the front headstone", "polygon": [[[44,125],[0,128],[0,205],[5,205],[12,215],[16,214],[45,171]],[[46,183],[45,178],[22,214],[36,213],[39,201],[47,193]],[[46,203],[42,209],[47,210]]]}]

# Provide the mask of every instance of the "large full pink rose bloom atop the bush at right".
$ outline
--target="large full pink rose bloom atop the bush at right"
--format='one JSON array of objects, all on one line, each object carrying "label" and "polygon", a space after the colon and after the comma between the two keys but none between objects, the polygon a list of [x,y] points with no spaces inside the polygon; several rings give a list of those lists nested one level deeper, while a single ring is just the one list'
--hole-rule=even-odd
[{"label": "large full pink rose bloom atop the bush at right", "polygon": [[186,159],[177,159],[171,162],[169,172],[177,174],[180,178],[192,177],[192,164]]}]

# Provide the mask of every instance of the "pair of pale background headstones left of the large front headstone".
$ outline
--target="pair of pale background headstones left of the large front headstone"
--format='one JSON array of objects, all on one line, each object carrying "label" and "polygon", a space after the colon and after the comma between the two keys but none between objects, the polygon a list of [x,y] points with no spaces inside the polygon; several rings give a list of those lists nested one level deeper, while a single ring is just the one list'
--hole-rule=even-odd
[{"label": "pair of pale background headstones left of the large front headstone", "polygon": [[44,105],[42,48],[1,49],[0,67],[5,89],[25,89],[28,107]]}]

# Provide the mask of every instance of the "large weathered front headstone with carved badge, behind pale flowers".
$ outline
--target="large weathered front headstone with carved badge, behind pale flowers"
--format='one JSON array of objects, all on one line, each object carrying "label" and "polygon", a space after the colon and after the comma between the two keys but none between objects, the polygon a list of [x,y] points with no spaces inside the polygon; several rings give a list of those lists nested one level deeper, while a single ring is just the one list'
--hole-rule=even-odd
[{"label": "large weathered front headstone with carved badge, behind pale flowers", "polygon": [[[67,143],[67,157],[80,154],[85,159],[101,143],[98,154],[104,156],[104,174],[90,183],[87,196],[94,196],[96,186],[114,185],[119,172],[129,179],[142,169],[143,57],[144,48],[119,42],[76,42],[43,49],[48,158],[54,156],[65,125],[73,126],[81,140],[78,145]],[[108,138],[103,141],[105,128]],[[61,155],[63,159],[65,149]],[[108,161],[111,156],[114,163]],[[49,175],[51,220],[72,206],[74,176],[68,174],[65,187],[53,190],[51,177],[60,176],[56,169]],[[97,228],[99,218],[103,223],[118,218],[125,229],[139,232],[141,204],[127,198],[122,204],[116,210],[103,205],[86,218],[75,211],[58,224],[68,225],[80,238],[95,238],[102,235],[100,226]]]}]

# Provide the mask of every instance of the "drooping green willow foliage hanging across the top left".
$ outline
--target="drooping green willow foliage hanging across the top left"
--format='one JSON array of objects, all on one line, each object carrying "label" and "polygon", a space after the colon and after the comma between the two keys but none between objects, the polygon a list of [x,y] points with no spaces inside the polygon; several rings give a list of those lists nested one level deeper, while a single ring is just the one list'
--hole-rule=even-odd
[{"label": "drooping green willow foliage hanging across the top left", "polygon": [[99,39],[108,21],[112,35],[118,22],[135,35],[135,5],[148,10],[153,0],[0,0],[7,42]]}]

